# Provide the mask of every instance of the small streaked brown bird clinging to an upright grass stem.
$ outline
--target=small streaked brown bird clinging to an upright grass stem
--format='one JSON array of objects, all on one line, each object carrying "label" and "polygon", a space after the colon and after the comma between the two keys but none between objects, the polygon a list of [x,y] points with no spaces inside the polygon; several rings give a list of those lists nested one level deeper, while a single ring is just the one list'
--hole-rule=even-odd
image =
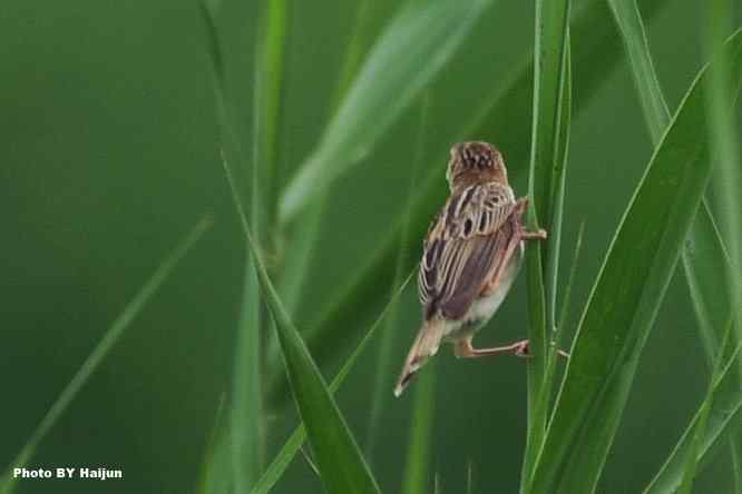
[{"label": "small streaked brown bird clinging to an upright grass stem", "polygon": [[394,395],[438,352],[453,344],[457,357],[502,352],[528,355],[528,340],[495,348],[473,348],[471,339],[502,303],[523,260],[524,241],[545,239],[526,231],[527,198],[516,200],[502,155],[488,142],[453,145],[446,174],[451,195],[423,241],[418,276],[422,327],[404,362]]}]

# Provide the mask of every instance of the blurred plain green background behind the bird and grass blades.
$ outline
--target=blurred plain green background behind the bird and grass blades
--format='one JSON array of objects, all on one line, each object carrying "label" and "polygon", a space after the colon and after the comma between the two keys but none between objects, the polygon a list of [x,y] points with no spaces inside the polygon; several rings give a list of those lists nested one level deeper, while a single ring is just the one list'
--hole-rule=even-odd
[{"label": "blurred plain green background behind the bird and grass blades", "polygon": [[[219,16],[245,136],[252,119],[252,3],[225,2]],[[282,181],[311,152],[329,118],[357,1],[291,3]],[[377,8],[390,12],[393,3],[384,0]],[[575,2],[575,10],[584,3]],[[671,108],[702,65],[697,19],[704,3],[668,1],[647,23]],[[531,2],[494,2],[429,90],[426,142],[440,148],[441,136],[508,79],[533,49],[533,18]],[[125,480],[25,481],[18,490],[193,492],[218,403],[231,386],[244,264],[244,239],[219,161],[198,6],[8,0],[0,7],[0,464],[4,468],[11,462],[126,302],[207,213],[215,226],[126,332],[30,464],[120,467]],[[573,118],[565,257],[583,220],[586,234],[570,327],[652,150],[626,63],[601,77],[597,92]],[[521,110],[530,113],[530,105]],[[333,187],[310,284],[294,315],[300,330],[404,210],[418,115],[418,106],[410,108],[362,165]],[[510,131],[528,136],[529,118],[515,118]],[[467,138],[498,142],[498,136]],[[502,151],[516,191],[524,195],[528,150]],[[428,154],[421,166],[439,169],[442,180],[446,161],[445,154]],[[284,256],[279,253],[279,263]],[[525,336],[523,278],[479,336],[480,345]],[[391,396],[419,324],[413,290],[402,306],[393,328],[393,367],[375,368],[370,352],[339,394],[362,443],[374,376],[387,375]],[[359,315],[358,324],[370,320]],[[335,354],[346,352],[342,346]],[[457,362],[448,348],[437,360],[432,462],[441,491],[463,492],[471,464],[472,492],[515,492],[526,432],[523,362]],[[322,368],[329,375],[336,363]],[[706,383],[678,275],[644,352],[599,492],[632,493],[646,484]],[[399,491],[410,405],[411,394],[384,405],[373,455],[384,492]],[[295,413],[283,402],[270,404],[267,414],[270,458],[295,424]],[[701,475],[699,492],[728,492],[728,467],[719,455]],[[321,492],[321,484],[297,458],[275,492]]]}]

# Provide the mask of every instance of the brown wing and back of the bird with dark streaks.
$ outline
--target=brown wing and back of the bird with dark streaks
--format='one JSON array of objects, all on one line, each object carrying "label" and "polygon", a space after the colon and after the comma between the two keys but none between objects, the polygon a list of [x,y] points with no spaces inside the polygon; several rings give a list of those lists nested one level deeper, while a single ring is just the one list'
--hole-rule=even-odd
[{"label": "brown wing and back of the bird with dark streaks", "polygon": [[470,186],[452,196],[423,244],[418,277],[426,319],[439,310],[458,319],[502,261],[514,235],[507,219],[516,206],[512,189],[498,182]]}]

